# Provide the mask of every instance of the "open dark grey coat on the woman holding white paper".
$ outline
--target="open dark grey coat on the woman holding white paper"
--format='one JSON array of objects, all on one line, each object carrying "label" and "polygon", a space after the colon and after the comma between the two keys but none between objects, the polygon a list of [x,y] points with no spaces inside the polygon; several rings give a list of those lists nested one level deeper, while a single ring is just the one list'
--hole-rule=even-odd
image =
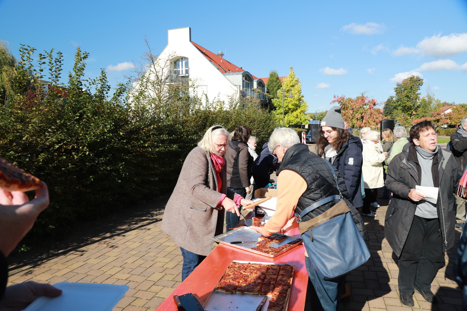
[{"label": "open dark grey coat on the woman holding white paper", "polygon": [[[457,190],[461,173],[452,153],[439,147],[432,163],[433,184],[439,187],[436,208],[445,251],[454,244],[456,200],[453,192]],[[401,256],[417,209],[417,202],[409,199],[409,191],[420,185],[420,178],[417,151],[412,145],[408,149],[404,146],[403,152],[389,163],[386,178],[386,188],[393,195],[386,212],[384,235],[397,257]]]}]

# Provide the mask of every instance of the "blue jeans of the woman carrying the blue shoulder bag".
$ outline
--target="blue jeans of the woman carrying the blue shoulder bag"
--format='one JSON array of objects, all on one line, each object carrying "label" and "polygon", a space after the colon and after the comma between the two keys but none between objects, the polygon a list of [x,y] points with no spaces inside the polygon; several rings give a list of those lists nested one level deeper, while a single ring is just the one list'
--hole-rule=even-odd
[{"label": "blue jeans of the woman carrying the blue shoulder bag", "polygon": [[[313,310],[339,310],[339,299],[340,296],[342,296],[342,290],[344,289],[347,275],[339,276],[332,280],[322,279],[316,270],[313,269],[311,260],[307,256],[305,256],[305,266],[319,302],[321,303],[319,305],[317,302],[313,301]],[[314,295],[312,294],[312,296]]]}]

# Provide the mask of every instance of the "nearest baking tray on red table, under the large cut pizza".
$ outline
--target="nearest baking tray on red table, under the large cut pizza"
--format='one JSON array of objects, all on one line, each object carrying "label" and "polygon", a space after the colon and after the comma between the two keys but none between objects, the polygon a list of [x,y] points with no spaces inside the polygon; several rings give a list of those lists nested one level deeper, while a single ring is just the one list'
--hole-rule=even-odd
[{"label": "nearest baking tray on red table, under the large cut pizza", "polygon": [[[290,263],[263,263],[263,262],[255,262],[255,261],[241,261],[241,260],[233,260],[236,263],[262,263],[262,264],[271,264],[271,265],[282,265],[288,264],[294,268],[295,273],[295,265]],[[227,270],[227,269],[226,269]],[[220,279],[219,279],[220,282]],[[216,287],[219,284],[216,284],[214,289],[212,290],[211,294],[207,297],[203,308],[209,311],[253,311],[256,310],[258,305],[260,304],[262,298],[264,296],[261,295],[253,295],[253,294],[229,294],[216,291]],[[290,292],[292,291],[292,284],[293,284],[293,275],[292,281],[290,285],[289,293],[287,294],[287,302],[285,305],[285,311],[289,307],[289,297]],[[266,302],[263,304],[261,311],[268,310],[269,301],[271,300],[271,296],[268,296]]]}]

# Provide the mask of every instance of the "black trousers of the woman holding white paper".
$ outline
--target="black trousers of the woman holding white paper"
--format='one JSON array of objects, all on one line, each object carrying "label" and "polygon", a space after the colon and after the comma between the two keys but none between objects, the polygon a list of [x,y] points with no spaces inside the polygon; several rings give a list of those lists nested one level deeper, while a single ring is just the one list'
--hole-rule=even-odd
[{"label": "black trousers of the woman holding white paper", "polygon": [[399,292],[413,295],[414,288],[431,290],[444,260],[443,239],[438,218],[414,215],[409,235],[399,258]]}]

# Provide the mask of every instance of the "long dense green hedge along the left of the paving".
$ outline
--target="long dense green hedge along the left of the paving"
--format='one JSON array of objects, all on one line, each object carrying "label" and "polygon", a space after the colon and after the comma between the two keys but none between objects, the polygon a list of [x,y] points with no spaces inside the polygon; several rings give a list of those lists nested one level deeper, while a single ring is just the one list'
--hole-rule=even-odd
[{"label": "long dense green hedge along the left of the paving", "polygon": [[[27,52],[20,64],[42,72],[30,59],[34,53]],[[97,79],[85,79],[87,56],[77,50],[66,99],[54,91],[42,94],[41,88],[21,92],[25,76],[12,82],[15,96],[0,111],[0,156],[49,187],[50,207],[37,219],[30,241],[61,235],[76,221],[106,217],[122,207],[131,213],[134,204],[171,193],[186,155],[213,124],[229,131],[247,125],[258,145],[279,125],[250,100],[225,110],[199,98],[179,98],[177,91],[162,102],[132,93],[129,103],[124,85],[109,99],[104,70]],[[51,63],[56,64],[50,66],[52,84],[58,84],[60,55]]]}]

